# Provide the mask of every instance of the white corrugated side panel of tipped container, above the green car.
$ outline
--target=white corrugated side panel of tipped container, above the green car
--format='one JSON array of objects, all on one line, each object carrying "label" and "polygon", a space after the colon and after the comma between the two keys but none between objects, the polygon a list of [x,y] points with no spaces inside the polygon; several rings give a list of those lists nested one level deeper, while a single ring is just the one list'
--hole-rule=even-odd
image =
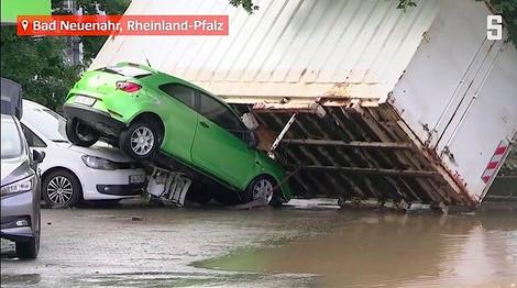
[{"label": "white corrugated side panel of tipped container, above the green car", "polygon": [[139,0],[127,14],[228,14],[228,36],[110,37],[91,68],[146,64],[222,97],[344,96],[383,101],[403,74],[438,1],[403,12],[397,0]]}]

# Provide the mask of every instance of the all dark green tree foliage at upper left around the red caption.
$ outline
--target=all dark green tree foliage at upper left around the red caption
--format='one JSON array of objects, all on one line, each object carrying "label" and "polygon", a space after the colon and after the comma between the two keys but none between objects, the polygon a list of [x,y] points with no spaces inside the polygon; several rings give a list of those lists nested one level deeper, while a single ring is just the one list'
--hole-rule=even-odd
[{"label": "all dark green tree foliage at upper left around the red caption", "polygon": [[[96,3],[108,14],[122,14],[130,0],[78,0],[86,14],[96,14]],[[54,14],[66,14],[61,9],[62,1],[52,0]],[[82,37],[85,63],[102,47],[107,37]],[[19,37],[14,26],[1,29],[1,76],[19,82],[23,98],[34,100],[58,111],[65,96],[79,79],[84,66],[69,66],[64,63],[65,37]]]}]

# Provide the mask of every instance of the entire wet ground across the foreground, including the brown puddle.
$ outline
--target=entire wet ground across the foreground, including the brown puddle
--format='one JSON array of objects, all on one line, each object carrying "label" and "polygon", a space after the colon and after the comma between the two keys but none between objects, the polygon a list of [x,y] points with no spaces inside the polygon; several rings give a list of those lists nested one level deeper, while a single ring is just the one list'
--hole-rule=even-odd
[{"label": "entire wet ground across the foreground, including the brown puddle", "polygon": [[135,204],[43,210],[36,261],[2,287],[516,287],[517,214]]}]

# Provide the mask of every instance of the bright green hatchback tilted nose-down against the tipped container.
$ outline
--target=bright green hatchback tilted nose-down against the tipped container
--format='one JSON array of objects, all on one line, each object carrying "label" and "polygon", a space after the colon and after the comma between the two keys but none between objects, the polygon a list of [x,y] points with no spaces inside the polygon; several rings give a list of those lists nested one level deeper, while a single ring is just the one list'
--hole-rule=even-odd
[{"label": "bright green hatchback tilted nose-down against the tipped container", "polygon": [[265,197],[277,206],[292,195],[285,170],[256,149],[255,133],[230,106],[150,67],[121,63],[87,71],[63,110],[76,145],[102,139],[138,160],[170,158],[235,191],[240,202]]}]

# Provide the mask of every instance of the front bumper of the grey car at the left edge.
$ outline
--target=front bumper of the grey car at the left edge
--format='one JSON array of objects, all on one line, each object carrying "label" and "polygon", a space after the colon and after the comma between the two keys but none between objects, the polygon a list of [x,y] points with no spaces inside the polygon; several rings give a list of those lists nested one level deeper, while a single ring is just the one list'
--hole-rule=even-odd
[{"label": "front bumper of the grey car at the left edge", "polygon": [[2,239],[28,241],[34,237],[34,221],[37,219],[32,191],[1,198]]}]

